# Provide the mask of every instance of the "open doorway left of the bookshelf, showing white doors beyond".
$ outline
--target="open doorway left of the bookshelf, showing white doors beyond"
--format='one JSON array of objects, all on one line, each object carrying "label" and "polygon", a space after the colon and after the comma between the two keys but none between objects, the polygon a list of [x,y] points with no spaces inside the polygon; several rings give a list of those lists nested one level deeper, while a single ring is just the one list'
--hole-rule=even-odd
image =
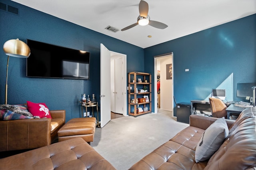
[{"label": "open doorway left of the bookshelf, showing white doors beyond", "polygon": [[[110,52],[111,119],[126,113],[126,55]],[[119,115],[114,115],[119,114]]]}]

